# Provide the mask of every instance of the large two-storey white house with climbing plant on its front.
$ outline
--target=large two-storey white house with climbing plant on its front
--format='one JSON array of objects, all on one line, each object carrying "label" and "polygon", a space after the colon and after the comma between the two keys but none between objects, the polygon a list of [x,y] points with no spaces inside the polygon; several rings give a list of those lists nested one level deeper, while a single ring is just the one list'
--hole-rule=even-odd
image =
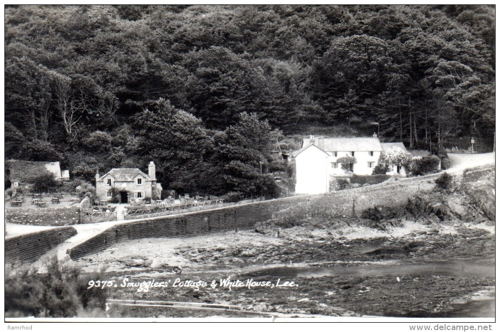
[{"label": "large two-storey white house with climbing plant on its front", "polygon": [[292,153],[296,167],[295,192],[328,192],[329,181],[334,176],[371,175],[382,150],[376,134],[372,137],[311,135],[304,138],[302,148]]}]

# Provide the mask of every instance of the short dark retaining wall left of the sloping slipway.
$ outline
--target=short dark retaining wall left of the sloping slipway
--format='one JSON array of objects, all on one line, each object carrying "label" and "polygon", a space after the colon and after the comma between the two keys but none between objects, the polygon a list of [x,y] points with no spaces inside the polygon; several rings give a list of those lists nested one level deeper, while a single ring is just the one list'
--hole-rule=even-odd
[{"label": "short dark retaining wall left of the sloping slipway", "polygon": [[76,235],[73,227],[59,227],[5,239],[5,262],[31,262],[45,252]]}]

